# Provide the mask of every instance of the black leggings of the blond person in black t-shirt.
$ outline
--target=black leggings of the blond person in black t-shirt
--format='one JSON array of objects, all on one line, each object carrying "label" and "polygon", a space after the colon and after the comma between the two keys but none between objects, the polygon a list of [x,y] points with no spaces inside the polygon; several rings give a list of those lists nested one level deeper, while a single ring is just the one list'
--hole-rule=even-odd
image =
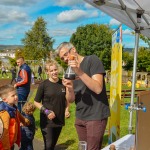
[{"label": "black leggings of the blond person in black t-shirt", "polygon": [[48,127],[41,129],[45,145],[44,150],[54,150],[61,130],[62,127],[55,127],[55,128]]}]

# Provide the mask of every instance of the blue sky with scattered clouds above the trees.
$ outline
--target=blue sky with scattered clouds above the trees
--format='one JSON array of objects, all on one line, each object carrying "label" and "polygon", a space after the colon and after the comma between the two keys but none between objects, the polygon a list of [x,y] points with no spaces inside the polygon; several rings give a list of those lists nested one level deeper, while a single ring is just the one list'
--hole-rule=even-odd
[{"label": "blue sky with scattered clouds above the trees", "polygon": [[[84,0],[0,0],[0,44],[21,45],[25,32],[38,17],[47,22],[47,31],[55,40],[53,48],[69,41],[78,26],[108,24],[116,29],[120,22],[90,6]],[[123,45],[133,48],[132,30],[123,25]],[[140,41],[139,46],[147,46]]]}]

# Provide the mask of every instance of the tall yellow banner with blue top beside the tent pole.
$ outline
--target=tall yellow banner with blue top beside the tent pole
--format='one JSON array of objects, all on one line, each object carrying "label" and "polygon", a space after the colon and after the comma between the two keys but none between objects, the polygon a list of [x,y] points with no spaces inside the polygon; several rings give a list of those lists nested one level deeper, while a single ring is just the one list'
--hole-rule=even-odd
[{"label": "tall yellow banner with blue top beside the tent pole", "polygon": [[122,84],[122,26],[112,35],[109,144],[120,136],[120,105]]}]

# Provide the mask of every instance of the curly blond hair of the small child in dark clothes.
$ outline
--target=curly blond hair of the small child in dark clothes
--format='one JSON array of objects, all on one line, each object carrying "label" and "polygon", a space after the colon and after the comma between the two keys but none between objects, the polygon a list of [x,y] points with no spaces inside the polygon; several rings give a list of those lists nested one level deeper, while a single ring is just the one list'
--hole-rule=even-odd
[{"label": "curly blond hair of the small child in dark clothes", "polygon": [[22,112],[28,115],[32,115],[36,107],[32,102],[26,102],[22,107]]}]

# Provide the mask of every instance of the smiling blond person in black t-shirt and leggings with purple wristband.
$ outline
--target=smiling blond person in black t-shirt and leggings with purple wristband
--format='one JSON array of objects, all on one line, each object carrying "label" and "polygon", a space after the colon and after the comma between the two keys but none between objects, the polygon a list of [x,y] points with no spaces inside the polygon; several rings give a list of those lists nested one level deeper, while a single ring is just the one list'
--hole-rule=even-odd
[{"label": "smiling blond person in black t-shirt and leggings with purple wristband", "polygon": [[54,150],[62,126],[65,125],[65,117],[70,116],[68,101],[72,98],[69,93],[73,85],[70,81],[66,87],[63,85],[63,81],[58,78],[55,62],[47,62],[45,70],[49,78],[40,83],[34,104],[40,109],[40,127],[45,150]]}]

